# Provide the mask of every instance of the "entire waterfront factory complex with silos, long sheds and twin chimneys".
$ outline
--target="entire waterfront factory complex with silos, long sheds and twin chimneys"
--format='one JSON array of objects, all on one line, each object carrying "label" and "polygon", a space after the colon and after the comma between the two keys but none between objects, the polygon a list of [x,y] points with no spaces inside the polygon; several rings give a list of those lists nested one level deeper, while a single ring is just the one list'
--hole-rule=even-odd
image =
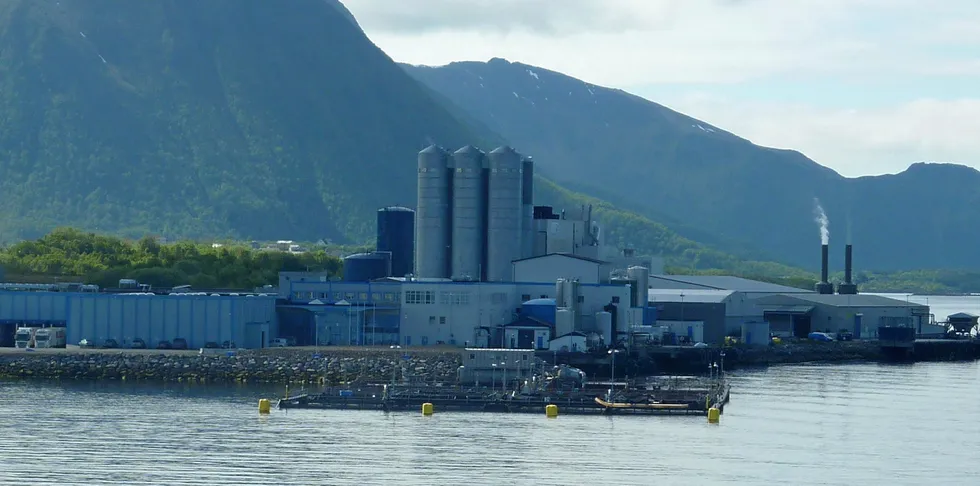
[{"label": "entire waterfront factory complex with silos, long sheds and twin chimneys", "polygon": [[141,339],[154,347],[183,338],[190,347],[258,348],[292,338],[297,345],[584,351],[643,339],[768,344],[770,333],[842,328],[873,338],[879,326],[922,332],[929,324],[926,306],[857,294],[851,245],[836,294],[826,244],[816,291],[663,275],[662,258],[605,245],[590,207],[534,206],[534,164],[510,147],[432,145],[417,164],[416,209],[379,209],[376,250],[347,256],[342,279],[281,272],[276,296],[10,287],[0,291],[0,335],[36,325],[66,326],[72,344]]}]

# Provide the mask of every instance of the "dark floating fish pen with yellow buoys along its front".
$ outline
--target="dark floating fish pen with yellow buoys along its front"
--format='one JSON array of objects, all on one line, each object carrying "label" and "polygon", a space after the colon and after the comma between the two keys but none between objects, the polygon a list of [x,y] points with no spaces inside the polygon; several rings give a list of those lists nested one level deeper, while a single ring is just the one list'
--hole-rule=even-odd
[{"label": "dark floating fish pen with yellow buoys along its front", "polygon": [[[333,387],[315,394],[279,399],[279,409],[425,410],[457,412],[617,415],[709,415],[721,412],[730,387],[724,379],[656,378],[641,383],[588,383],[581,387],[535,386],[519,390],[447,384],[384,384]],[[549,406],[554,405],[557,409]]]}]

